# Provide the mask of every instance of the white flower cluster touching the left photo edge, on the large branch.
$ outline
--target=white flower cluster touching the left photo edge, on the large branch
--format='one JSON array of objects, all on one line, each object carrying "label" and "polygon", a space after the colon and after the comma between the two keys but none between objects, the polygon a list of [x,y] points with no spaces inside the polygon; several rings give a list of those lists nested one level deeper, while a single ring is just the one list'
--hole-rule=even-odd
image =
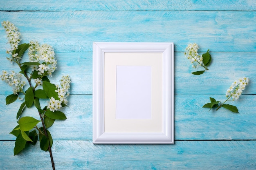
[{"label": "white flower cluster touching the left photo edge, on the large branch", "polygon": [[17,94],[18,92],[23,91],[23,87],[26,85],[24,81],[22,81],[20,73],[15,73],[14,71],[11,71],[11,73],[8,73],[7,71],[3,70],[2,75],[0,75],[0,78],[7,82],[9,86],[13,87],[13,93]]}]

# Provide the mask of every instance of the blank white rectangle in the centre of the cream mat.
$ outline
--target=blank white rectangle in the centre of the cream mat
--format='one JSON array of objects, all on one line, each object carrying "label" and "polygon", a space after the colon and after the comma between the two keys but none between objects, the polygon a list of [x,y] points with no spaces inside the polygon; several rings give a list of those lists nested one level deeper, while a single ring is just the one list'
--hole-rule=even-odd
[{"label": "blank white rectangle in the centre of the cream mat", "polygon": [[117,66],[116,118],[151,119],[151,66]]}]

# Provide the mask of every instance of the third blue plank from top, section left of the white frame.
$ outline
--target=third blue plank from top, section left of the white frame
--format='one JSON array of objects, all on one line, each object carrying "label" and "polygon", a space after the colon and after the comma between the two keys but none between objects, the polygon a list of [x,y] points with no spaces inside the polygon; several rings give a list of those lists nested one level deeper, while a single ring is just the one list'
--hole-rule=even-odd
[{"label": "third blue plank from top, section left of the white frame", "polygon": [[[2,70],[8,72],[15,71],[18,73],[20,69],[18,65],[11,64],[7,59],[6,53],[0,53],[0,74]],[[58,62],[56,71],[49,77],[51,83],[60,84],[59,80],[63,75],[71,77],[71,94],[92,94],[92,53],[56,53]],[[28,56],[24,55],[22,62],[28,61]],[[26,81],[25,79],[23,79]],[[27,81],[26,81],[27,82]],[[28,83],[27,83],[28,84]],[[0,94],[11,94],[12,88],[0,79]],[[27,87],[25,87],[27,89]]]}]

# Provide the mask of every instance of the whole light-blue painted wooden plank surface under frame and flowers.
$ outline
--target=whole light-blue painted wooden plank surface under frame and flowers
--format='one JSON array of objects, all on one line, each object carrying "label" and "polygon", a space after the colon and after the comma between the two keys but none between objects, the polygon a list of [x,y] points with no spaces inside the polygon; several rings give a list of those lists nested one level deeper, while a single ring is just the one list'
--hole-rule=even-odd
[{"label": "whole light-blue painted wooden plank surface under frame and flowers", "polygon": [[[56,169],[170,170],[256,169],[256,1],[255,0],[0,0],[0,22],[9,20],[30,40],[54,47],[58,70],[72,79],[65,121],[49,128]],[[6,34],[0,28],[0,68],[18,69],[6,60]],[[92,144],[92,43],[174,42],[175,145]],[[210,49],[212,64],[195,71],[184,50],[190,42],[200,54]],[[202,108],[209,97],[225,101],[240,77],[250,82],[236,102],[239,114]],[[13,156],[16,104],[0,82],[0,169],[51,169],[39,144]],[[36,110],[26,115],[36,117]]]}]

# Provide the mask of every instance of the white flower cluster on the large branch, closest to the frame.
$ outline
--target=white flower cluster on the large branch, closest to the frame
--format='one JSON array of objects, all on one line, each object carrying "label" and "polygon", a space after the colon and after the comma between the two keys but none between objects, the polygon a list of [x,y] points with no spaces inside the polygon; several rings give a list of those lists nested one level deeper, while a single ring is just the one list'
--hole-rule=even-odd
[{"label": "white flower cluster on the large branch, closest to the frame", "polygon": [[57,90],[55,90],[56,93],[58,93],[58,99],[54,99],[54,97],[51,97],[50,101],[48,102],[47,108],[51,110],[52,112],[57,111],[62,107],[62,104],[67,105],[67,97],[69,96],[69,89],[70,89],[70,76],[62,76],[61,78],[61,87],[56,86]]}]

